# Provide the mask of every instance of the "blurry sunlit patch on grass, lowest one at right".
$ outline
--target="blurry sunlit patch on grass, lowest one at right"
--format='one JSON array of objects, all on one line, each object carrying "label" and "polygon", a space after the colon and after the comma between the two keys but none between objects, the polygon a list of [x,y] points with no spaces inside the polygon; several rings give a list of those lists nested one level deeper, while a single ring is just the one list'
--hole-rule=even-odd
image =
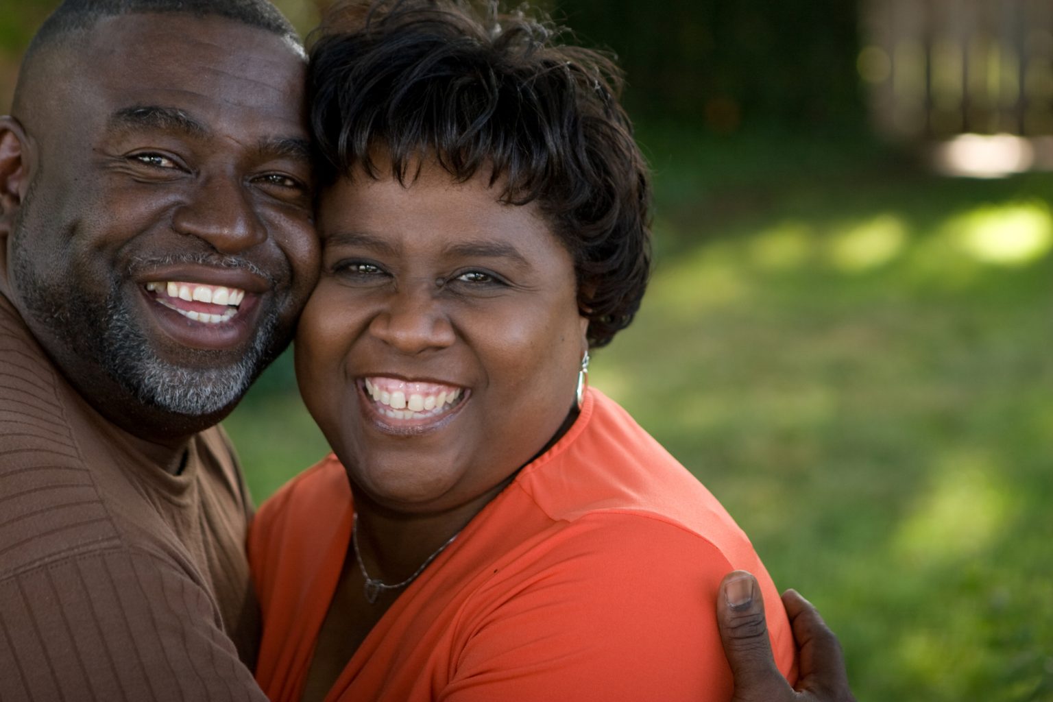
[{"label": "blurry sunlit patch on grass, lowest one at right", "polygon": [[934,484],[900,526],[897,548],[925,562],[981,553],[1001,534],[1010,496],[990,457],[965,450],[945,456]]}]

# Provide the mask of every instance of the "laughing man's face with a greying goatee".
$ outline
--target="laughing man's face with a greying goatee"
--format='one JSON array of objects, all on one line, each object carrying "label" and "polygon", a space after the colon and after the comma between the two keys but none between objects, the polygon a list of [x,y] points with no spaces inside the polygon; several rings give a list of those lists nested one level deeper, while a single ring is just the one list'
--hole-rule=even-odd
[{"label": "laughing man's face with a greying goatee", "polygon": [[234,406],[314,285],[303,60],[183,15],[103,20],[59,51],[61,80],[18,116],[38,157],[14,302],[92,404],[175,438]]}]

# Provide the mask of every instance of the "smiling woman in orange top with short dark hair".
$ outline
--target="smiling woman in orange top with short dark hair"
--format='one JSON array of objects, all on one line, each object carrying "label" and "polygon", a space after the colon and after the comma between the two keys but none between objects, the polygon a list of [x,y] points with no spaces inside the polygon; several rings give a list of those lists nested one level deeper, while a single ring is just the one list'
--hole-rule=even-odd
[{"label": "smiling woman in orange top with short dark hair", "polygon": [[264,691],[728,700],[712,602],[739,567],[792,679],[746,536],[585,387],[648,276],[614,67],[452,0],[362,11],[343,5],[312,55],[332,173],[296,365],[335,456],[253,527]]}]

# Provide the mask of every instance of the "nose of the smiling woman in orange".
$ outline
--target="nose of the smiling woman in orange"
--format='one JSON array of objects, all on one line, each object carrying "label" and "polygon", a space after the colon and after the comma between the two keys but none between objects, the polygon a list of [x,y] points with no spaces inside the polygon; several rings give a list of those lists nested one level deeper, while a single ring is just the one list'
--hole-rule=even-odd
[{"label": "nose of the smiling woman in orange", "polygon": [[445,348],[455,333],[431,281],[395,290],[370,322],[370,332],[403,354]]}]

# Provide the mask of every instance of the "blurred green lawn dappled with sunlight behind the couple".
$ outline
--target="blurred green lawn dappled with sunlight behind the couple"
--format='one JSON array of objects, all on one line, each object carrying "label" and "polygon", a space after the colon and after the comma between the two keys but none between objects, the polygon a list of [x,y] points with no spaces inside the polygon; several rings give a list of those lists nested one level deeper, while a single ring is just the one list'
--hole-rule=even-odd
[{"label": "blurred green lawn dappled with sunlight behind the couple", "polygon": [[[860,702],[1053,700],[1053,177],[664,138],[652,288],[592,383],[818,604]],[[258,498],[324,450],[269,374],[227,423]]]}]

